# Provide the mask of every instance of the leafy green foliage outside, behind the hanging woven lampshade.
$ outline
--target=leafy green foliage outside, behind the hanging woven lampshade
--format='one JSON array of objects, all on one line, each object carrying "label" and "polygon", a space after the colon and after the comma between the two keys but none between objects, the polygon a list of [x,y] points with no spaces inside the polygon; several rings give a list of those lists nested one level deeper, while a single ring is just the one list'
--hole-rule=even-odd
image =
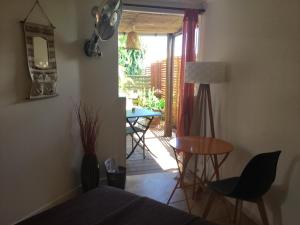
[{"label": "leafy green foliage outside, behind the hanging woven lampshade", "polygon": [[126,74],[140,75],[143,72],[145,50],[126,49],[126,40],[126,35],[119,35],[119,65],[125,68]]}]

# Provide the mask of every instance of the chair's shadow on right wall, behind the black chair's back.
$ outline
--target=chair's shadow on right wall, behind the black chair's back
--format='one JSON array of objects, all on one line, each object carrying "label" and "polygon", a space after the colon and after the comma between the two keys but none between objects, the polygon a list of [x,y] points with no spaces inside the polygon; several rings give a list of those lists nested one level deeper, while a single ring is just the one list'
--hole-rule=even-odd
[{"label": "chair's shadow on right wall, behind the black chair's back", "polygon": [[273,213],[274,225],[282,225],[282,210],[281,206],[286,201],[293,171],[296,165],[300,162],[300,155],[297,155],[292,159],[287,172],[284,176],[281,185],[273,185],[271,191],[266,195],[267,205],[271,207],[271,212]]}]

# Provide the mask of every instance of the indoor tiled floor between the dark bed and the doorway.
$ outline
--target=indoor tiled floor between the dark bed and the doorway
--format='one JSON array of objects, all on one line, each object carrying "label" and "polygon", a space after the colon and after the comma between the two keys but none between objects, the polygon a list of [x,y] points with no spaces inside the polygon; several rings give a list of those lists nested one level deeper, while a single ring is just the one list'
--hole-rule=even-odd
[{"label": "indoor tiled floor between the dark bed and the doorway", "polygon": [[[176,172],[150,173],[143,175],[127,176],[126,190],[137,195],[146,196],[159,202],[166,203],[168,197],[176,184]],[[207,201],[207,192],[198,196],[197,200],[191,202],[192,214],[201,216]],[[171,206],[187,211],[186,202],[182,190],[177,189],[172,200]],[[225,199],[216,199],[208,220],[220,225],[232,224],[230,217],[233,215],[233,206]],[[242,216],[241,225],[256,225],[248,217]]]}]

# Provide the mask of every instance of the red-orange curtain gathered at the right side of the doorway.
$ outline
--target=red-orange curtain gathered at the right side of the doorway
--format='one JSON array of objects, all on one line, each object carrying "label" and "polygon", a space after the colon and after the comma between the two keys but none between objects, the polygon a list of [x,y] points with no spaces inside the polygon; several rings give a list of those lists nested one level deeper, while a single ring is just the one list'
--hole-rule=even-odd
[{"label": "red-orange curtain gathered at the right side of the doorway", "polygon": [[187,9],[184,13],[177,137],[189,135],[193,117],[194,84],[184,83],[184,71],[186,62],[196,60],[195,36],[198,13],[199,11],[194,9]]}]

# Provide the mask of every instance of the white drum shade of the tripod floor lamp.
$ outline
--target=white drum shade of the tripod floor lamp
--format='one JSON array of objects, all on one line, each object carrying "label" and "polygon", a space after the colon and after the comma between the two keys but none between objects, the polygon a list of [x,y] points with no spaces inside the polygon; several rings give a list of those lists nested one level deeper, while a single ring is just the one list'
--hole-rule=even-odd
[{"label": "white drum shade of the tripod floor lamp", "polygon": [[187,62],[185,83],[212,84],[226,82],[224,62]]}]

